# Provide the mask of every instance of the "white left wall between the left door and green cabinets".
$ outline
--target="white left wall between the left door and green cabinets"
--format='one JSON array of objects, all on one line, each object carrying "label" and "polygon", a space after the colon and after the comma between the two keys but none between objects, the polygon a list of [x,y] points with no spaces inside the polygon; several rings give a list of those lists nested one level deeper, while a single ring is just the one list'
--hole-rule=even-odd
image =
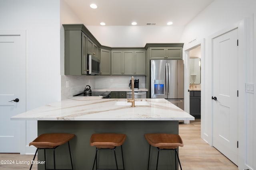
[{"label": "white left wall between the left door and green cabinets", "polygon": [[[0,2],[0,29],[26,30],[26,110],[60,100],[59,23],[59,0]],[[34,154],[37,121],[26,122],[26,134],[26,153]]]}]

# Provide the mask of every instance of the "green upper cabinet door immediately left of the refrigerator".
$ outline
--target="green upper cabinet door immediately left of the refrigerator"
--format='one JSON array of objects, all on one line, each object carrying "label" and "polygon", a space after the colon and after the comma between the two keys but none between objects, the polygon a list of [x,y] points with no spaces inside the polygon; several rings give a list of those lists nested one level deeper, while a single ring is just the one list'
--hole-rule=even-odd
[{"label": "green upper cabinet door immediately left of the refrigerator", "polygon": [[134,75],[145,75],[146,52],[134,51]]}]

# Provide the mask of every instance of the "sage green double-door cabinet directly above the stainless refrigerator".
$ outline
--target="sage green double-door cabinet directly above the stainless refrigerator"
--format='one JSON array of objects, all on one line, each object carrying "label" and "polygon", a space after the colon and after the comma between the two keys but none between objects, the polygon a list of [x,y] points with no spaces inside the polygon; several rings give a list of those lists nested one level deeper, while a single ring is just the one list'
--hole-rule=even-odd
[{"label": "sage green double-door cabinet directly above the stainless refrigerator", "polygon": [[150,60],[182,60],[182,47],[149,47]]}]

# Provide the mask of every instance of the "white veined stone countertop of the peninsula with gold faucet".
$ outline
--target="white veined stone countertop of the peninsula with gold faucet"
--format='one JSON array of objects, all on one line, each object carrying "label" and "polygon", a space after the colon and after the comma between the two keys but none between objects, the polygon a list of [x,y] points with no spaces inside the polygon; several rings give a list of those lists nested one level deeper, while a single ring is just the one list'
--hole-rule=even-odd
[{"label": "white veined stone countertop of the peninsula with gold faucet", "polygon": [[192,115],[165,99],[136,99],[136,107],[127,106],[128,104],[131,105],[126,99],[102,99],[99,96],[77,96],[32,109],[11,117],[11,120],[194,120]]}]

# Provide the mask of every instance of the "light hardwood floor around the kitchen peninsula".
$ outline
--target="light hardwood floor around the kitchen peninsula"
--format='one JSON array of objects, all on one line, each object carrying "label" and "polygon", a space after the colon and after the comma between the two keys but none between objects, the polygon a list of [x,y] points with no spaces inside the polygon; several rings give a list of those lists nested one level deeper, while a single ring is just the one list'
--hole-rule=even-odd
[{"label": "light hardwood floor around the kitchen peninsula", "polygon": [[[238,167],[228,158],[201,139],[200,119],[190,121],[190,124],[180,123],[179,134],[184,143],[184,147],[179,148],[183,170],[238,170]],[[31,163],[32,159],[33,155],[0,153],[0,160],[14,161],[14,164],[0,164],[0,170],[28,170],[30,165],[26,164],[25,161]],[[16,164],[16,161],[24,162],[23,164]],[[36,170],[37,166],[33,165],[32,169]]]}]

